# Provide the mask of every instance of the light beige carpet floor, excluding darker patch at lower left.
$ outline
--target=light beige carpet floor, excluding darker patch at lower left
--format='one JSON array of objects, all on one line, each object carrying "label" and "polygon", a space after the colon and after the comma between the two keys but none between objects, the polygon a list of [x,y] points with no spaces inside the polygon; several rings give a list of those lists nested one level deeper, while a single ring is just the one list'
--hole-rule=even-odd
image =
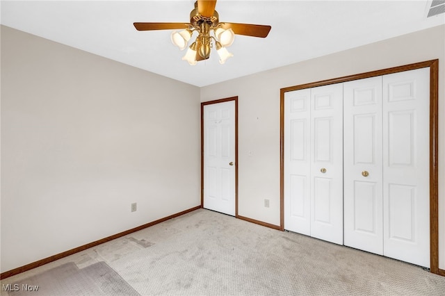
[{"label": "light beige carpet floor, excluding darker patch at lower left", "polygon": [[67,261],[105,261],[140,295],[445,295],[418,266],[204,209],[51,264]]}]

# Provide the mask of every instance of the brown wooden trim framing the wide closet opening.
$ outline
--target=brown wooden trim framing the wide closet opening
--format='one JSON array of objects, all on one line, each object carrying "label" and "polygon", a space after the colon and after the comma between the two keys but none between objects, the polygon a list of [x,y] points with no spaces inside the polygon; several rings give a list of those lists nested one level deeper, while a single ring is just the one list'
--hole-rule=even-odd
[{"label": "brown wooden trim framing the wide closet opening", "polygon": [[280,230],[284,231],[284,94],[293,90],[343,83],[374,76],[382,76],[414,69],[430,67],[430,270],[445,276],[439,270],[439,60],[380,69],[334,79],[305,83],[280,89]]}]

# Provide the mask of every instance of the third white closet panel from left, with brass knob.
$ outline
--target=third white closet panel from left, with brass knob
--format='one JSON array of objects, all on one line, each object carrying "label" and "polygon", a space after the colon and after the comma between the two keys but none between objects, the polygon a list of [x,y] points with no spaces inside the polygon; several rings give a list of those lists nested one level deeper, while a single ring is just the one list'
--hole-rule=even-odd
[{"label": "third white closet panel from left, with brass knob", "polygon": [[382,255],[382,76],[344,83],[343,115],[344,244]]}]

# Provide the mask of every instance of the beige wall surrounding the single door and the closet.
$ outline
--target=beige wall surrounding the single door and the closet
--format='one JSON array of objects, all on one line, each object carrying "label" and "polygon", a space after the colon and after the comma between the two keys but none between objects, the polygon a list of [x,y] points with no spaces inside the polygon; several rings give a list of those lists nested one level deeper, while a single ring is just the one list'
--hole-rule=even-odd
[{"label": "beige wall surrounding the single door and the closet", "polygon": [[[439,58],[439,180],[445,172],[445,26],[201,88],[201,101],[238,96],[238,214],[280,224],[280,88]],[[252,156],[249,156],[252,151]],[[264,207],[270,199],[270,207]],[[445,269],[445,182],[439,182]]]}]

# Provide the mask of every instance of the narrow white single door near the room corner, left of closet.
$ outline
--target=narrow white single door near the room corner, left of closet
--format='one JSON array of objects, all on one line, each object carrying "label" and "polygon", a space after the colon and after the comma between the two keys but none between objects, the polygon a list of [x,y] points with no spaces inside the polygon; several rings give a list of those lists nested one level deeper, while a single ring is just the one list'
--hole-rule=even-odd
[{"label": "narrow white single door near the room corner, left of closet", "polygon": [[204,105],[204,208],[235,215],[235,101]]}]

